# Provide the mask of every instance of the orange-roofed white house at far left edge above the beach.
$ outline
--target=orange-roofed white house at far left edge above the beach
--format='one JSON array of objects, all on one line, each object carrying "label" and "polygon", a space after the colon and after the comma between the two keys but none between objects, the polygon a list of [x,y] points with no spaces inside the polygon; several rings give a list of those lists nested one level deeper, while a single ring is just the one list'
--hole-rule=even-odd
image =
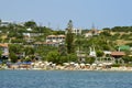
[{"label": "orange-roofed white house at far left edge above the beach", "polygon": [[9,46],[7,43],[0,43],[0,50],[2,52],[1,57],[8,58],[9,57]]}]

